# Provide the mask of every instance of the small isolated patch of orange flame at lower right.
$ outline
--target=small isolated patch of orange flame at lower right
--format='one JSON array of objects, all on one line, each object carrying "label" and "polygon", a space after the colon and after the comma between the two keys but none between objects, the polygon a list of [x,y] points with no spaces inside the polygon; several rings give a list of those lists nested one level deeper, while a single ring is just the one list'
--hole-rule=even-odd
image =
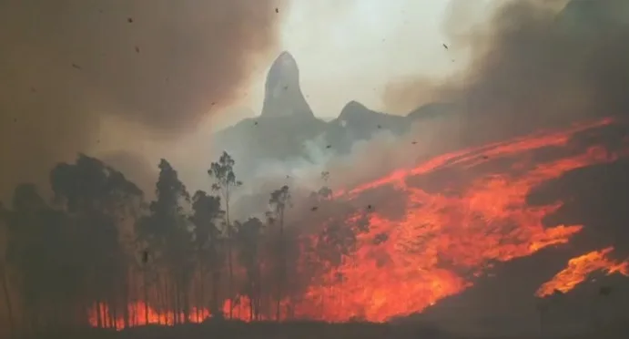
[{"label": "small isolated patch of orange flame at lower right", "polygon": [[545,282],[535,295],[544,297],[552,295],[555,291],[566,293],[585,281],[590,273],[596,271],[603,271],[607,275],[620,273],[629,276],[629,262],[614,262],[607,258],[612,251],[614,248],[608,247],[571,259],[568,267],[555,274],[550,282]]}]

